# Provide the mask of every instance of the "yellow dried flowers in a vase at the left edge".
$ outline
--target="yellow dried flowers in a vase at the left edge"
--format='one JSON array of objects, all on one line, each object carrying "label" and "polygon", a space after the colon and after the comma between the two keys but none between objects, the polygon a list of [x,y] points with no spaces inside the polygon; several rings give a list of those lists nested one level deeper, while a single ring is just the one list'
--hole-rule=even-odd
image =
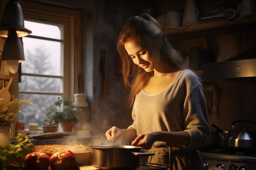
[{"label": "yellow dried flowers in a vase at the left edge", "polygon": [[26,107],[25,102],[32,106],[34,106],[34,104],[31,102],[31,99],[27,99],[26,96],[23,97],[22,100],[19,100],[12,95],[11,102],[8,104],[4,104],[2,101],[3,98],[0,98],[0,146],[5,146],[11,144],[8,131],[11,123],[13,123],[18,115],[18,111]]}]

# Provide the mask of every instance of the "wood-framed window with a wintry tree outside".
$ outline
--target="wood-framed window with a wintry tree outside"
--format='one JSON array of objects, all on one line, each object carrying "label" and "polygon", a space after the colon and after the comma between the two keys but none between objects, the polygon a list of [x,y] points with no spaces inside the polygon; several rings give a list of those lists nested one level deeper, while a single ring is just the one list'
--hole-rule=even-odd
[{"label": "wood-framed window with a wintry tree outside", "polygon": [[[26,96],[35,106],[22,108],[25,128],[29,123],[38,123],[46,118],[58,95],[74,95],[75,24],[74,16],[61,15],[66,9],[52,10],[40,5],[20,3],[25,28],[32,31],[22,38],[25,61],[21,64],[19,98]],[[33,10],[32,10],[33,9]],[[42,11],[48,9],[55,11]],[[58,12],[59,11],[59,12]],[[74,11],[75,15],[76,12]],[[79,24],[78,24],[79,25]]]}]

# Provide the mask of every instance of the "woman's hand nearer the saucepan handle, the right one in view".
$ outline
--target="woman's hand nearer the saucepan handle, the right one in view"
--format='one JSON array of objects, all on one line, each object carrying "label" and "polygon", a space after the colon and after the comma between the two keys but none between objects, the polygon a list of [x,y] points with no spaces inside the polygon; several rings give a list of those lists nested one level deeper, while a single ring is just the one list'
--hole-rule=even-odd
[{"label": "woman's hand nearer the saucepan handle, the right one in view", "polygon": [[134,141],[132,142],[132,146],[142,146],[145,149],[150,149],[156,141],[154,138],[155,132],[142,133],[134,139]]}]

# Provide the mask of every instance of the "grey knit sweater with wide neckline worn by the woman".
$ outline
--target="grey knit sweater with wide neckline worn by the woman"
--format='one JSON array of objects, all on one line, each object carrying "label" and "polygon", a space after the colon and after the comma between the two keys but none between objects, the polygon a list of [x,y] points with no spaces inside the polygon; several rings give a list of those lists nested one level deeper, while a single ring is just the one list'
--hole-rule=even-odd
[{"label": "grey knit sweater with wide neckline worn by the woman", "polygon": [[137,135],[150,131],[183,131],[191,135],[189,146],[156,141],[152,148],[164,146],[200,148],[209,142],[210,128],[207,106],[200,78],[191,70],[182,70],[163,91],[148,94],[140,91],[132,109]]}]

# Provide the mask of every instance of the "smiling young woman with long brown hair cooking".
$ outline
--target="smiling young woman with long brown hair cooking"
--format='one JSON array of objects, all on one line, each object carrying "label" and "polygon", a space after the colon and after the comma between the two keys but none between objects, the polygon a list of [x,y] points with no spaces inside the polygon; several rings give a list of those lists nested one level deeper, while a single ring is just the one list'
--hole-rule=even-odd
[{"label": "smiling young woman with long brown hair cooking", "polygon": [[113,126],[107,139],[127,139],[154,152],[146,162],[170,164],[173,170],[203,170],[197,149],[208,144],[210,128],[200,77],[148,14],[126,21],[117,49],[124,83],[131,91],[133,124],[127,129]]}]

